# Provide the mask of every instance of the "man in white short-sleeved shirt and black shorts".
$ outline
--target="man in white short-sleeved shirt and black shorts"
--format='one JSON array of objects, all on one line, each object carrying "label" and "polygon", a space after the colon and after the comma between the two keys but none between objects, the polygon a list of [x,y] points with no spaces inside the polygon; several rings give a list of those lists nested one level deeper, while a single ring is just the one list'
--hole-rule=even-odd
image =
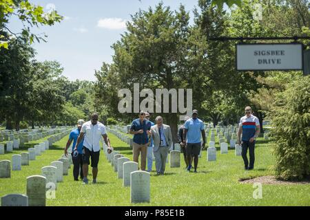
[{"label": "man in white short-sleeved shirt and black shorts", "polygon": [[105,144],[107,144],[107,152],[111,153],[112,148],[110,144],[110,140],[107,137],[107,132],[105,131],[105,126],[98,122],[99,115],[98,113],[93,113],[91,115],[91,120],[85,122],[82,126],[81,133],[79,135],[78,140],[76,141],[76,146],[74,151],[81,140],[83,140],[83,152],[82,152],[82,160],[83,160],[83,184],[88,184],[88,165],[90,164],[90,158],[92,160],[92,183],[96,184],[96,177],[98,174],[98,163],[99,163],[99,155],[100,155],[100,140],[101,136],[103,140],[105,140]]}]

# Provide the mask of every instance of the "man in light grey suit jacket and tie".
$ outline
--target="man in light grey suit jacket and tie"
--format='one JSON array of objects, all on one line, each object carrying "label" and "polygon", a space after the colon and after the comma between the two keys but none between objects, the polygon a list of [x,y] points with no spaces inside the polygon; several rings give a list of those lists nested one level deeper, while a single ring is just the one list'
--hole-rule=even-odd
[{"label": "man in light grey suit jacket and tie", "polygon": [[166,159],[170,146],[172,146],[172,133],[170,126],[163,124],[161,116],[156,117],[156,124],[151,127],[151,135],[154,141],[154,156],[157,175],[165,173]]}]

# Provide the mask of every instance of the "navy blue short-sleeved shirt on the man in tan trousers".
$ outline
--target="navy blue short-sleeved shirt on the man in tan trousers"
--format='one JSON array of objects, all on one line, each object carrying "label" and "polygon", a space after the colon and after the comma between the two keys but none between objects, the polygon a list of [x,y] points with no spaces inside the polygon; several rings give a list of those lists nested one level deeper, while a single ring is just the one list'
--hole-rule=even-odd
[{"label": "navy blue short-sleeved shirt on the man in tan trousers", "polygon": [[147,130],[151,130],[151,126],[152,124],[149,120],[143,120],[142,124],[140,122],[140,118],[132,121],[132,126],[130,127],[130,130],[139,131],[143,129],[143,133],[136,133],[134,135],[134,142],[136,144],[147,144],[149,142]]}]

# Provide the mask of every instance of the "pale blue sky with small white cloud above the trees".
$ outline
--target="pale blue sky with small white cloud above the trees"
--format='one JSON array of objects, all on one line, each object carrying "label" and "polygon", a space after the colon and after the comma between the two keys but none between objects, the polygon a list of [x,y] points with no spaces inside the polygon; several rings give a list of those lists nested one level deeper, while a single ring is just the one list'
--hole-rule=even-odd
[{"label": "pale blue sky with small white cloud above the trees", "polygon": [[[64,67],[63,75],[69,80],[96,80],[94,69],[100,69],[103,62],[111,63],[111,45],[121,39],[125,32],[125,21],[139,8],[147,10],[160,0],[31,0],[42,5],[45,11],[56,8],[65,20],[52,27],[32,29],[34,33],[48,35],[48,43],[34,43],[38,61],[59,61]],[[172,10],[180,3],[191,11],[197,0],[163,0]],[[11,19],[9,27],[19,32],[21,22]]]}]

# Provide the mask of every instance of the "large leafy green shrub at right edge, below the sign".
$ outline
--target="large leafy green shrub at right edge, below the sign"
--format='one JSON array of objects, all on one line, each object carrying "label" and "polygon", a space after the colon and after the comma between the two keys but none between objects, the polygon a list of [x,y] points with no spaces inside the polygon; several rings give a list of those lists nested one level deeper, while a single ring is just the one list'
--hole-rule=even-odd
[{"label": "large leafy green shrub at right edge, below the sign", "polygon": [[276,175],[303,179],[310,175],[310,76],[296,80],[271,109],[271,136],[276,140]]}]

